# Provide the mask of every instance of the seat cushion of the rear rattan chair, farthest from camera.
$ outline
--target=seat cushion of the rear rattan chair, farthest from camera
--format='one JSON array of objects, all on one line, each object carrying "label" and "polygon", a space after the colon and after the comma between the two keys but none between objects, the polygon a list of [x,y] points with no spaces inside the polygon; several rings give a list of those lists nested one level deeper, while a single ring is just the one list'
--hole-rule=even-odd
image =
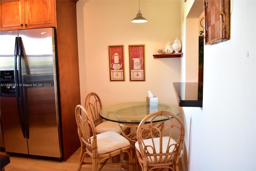
[{"label": "seat cushion of the rear rattan chair, farthest from camera", "polygon": [[104,121],[95,127],[97,133],[103,133],[106,131],[115,131],[121,133],[121,129],[117,122]]}]

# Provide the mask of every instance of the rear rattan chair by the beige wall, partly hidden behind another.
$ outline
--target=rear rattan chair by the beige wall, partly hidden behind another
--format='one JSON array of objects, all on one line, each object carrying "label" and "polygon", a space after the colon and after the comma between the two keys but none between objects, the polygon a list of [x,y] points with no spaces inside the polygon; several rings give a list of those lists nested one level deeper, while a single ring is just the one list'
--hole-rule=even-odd
[{"label": "rear rattan chair by the beige wall, partly hidden behind another", "polygon": [[117,133],[121,133],[120,126],[117,122],[104,121],[100,117],[99,111],[102,109],[102,103],[100,97],[96,93],[91,92],[87,95],[84,106],[86,109],[88,109],[93,117],[97,133],[103,133],[106,131],[115,131]]}]

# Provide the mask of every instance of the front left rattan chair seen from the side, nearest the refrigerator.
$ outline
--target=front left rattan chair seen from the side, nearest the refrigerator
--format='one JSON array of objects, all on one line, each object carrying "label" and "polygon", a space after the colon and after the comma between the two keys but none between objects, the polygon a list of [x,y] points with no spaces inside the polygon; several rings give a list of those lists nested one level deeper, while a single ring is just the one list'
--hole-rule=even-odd
[{"label": "front left rattan chair seen from the side, nearest the refrigerator", "polygon": [[[82,105],[76,106],[75,115],[82,144],[78,171],[85,164],[92,165],[92,171],[100,171],[104,165],[129,165],[129,170],[132,171],[132,145],[125,137],[115,131],[97,134],[91,114]],[[126,163],[107,162],[117,155],[123,159],[124,154],[128,156]],[[92,157],[91,163],[84,162],[86,155]]]}]

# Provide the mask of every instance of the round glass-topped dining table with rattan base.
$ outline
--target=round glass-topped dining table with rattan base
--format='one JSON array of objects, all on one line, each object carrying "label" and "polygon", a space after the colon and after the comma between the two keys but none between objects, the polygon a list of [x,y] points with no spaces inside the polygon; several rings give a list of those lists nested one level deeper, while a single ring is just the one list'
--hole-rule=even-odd
[{"label": "round glass-topped dining table with rattan base", "polygon": [[[140,124],[140,121],[142,121],[146,115],[155,111],[170,111],[176,115],[180,113],[177,107],[166,103],[158,103],[158,107],[152,109],[145,101],[118,103],[103,107],[100,110],[99,115],[108,121],[118,122],[122,135],[129,139],[131,143],[135,143],[137,141],[136,128]],[[156,120],[156,124],[163,127],[164,121],[167,120],[166,117],[160,116],[158,117],[158,120]],[[149,122],[150,120],[148,120],[148,123]]]}]

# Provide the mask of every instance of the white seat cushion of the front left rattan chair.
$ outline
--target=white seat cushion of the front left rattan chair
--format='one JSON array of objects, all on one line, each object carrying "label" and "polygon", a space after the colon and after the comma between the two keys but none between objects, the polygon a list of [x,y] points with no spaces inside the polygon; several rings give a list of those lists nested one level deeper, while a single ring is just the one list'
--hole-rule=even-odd
[{"label": "white seat cushion of the front left rattan chair", "polygon": [[128,139],[115,131],[107,131],[97,134],[98,154],[115,151],[128,145],[130,145]]}]

